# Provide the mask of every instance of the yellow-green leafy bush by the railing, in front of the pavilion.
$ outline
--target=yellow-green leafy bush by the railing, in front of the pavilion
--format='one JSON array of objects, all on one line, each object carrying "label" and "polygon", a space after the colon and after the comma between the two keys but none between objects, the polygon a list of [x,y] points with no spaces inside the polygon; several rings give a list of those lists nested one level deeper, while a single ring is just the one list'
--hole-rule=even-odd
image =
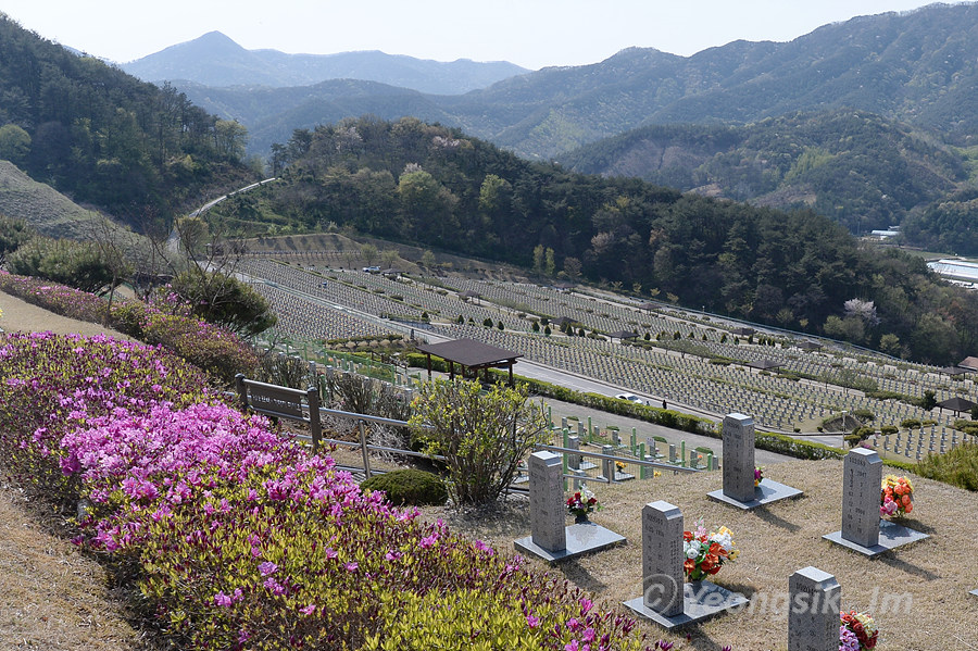
[{"label": "yellow-green leafy bush by the railing, in front of the pavilion", "polygon": [[460,379],[422,386],[410,423],[426,454],[446,458],[455,504],[498,500],[534,446],[548,440],[542,405],[528,396],[525,384],[486,391]]}]

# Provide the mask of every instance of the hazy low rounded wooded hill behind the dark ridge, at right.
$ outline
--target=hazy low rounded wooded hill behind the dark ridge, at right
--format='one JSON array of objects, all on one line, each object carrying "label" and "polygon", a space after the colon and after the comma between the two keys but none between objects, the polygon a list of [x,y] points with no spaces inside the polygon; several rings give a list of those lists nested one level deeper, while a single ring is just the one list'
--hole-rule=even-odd
[{"label": "hazy low rounded wooded hill behind the dark ridge, at right", "polygon": [[[642,127],[560,160],[587,174],[638,176],[774,208],[811,208],[857,235],[899,225],[969,184],[961,150],[906,124],[853,110],[795,113],[744,126]],[[939,230],[943,236],[931,239],[956,235]]]}]

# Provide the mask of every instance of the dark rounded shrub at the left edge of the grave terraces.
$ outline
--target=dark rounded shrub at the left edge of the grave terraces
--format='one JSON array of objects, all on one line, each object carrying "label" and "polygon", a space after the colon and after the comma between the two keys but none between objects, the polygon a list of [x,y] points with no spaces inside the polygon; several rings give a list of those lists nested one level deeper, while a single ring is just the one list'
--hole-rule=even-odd
[{"label": "dark rounded shrub at the left edge of the grave terraces", "polygon": [[195,315],[238,335],[253,337],[278,322],[265,297],[230,274],[193,266],[172,286]]}]

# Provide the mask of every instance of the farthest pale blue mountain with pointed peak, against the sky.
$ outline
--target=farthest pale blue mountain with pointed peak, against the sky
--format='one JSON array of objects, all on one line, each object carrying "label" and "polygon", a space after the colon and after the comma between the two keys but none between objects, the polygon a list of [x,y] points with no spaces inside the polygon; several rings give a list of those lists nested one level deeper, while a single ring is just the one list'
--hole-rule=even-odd
[{"label": "farthest pale blue mountain with pointed peak, against the sky", "polygon": [[283,88],[311,86],[326,79],[363,79],[434,95],[468,92],[529,72],[506,61],[440,62],[379,51],[287,54],[278,50],[246,50],[220,32],[210,32],[120,67],[153,83]]}]

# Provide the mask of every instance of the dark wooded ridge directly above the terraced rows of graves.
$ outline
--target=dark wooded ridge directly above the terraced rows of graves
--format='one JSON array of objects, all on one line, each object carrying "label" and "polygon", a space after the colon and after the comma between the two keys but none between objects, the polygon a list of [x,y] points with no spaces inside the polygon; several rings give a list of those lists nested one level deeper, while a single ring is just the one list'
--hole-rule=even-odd
[{"label": "dark wooded ridge directly above the terraced rows of graves", "polygon": [[572,173],[411,118],[299,130],[276,151],[283,183],[225,202],[226,224],[348,228],[933,362],[978,347],[978,296],[812,211]]}]

